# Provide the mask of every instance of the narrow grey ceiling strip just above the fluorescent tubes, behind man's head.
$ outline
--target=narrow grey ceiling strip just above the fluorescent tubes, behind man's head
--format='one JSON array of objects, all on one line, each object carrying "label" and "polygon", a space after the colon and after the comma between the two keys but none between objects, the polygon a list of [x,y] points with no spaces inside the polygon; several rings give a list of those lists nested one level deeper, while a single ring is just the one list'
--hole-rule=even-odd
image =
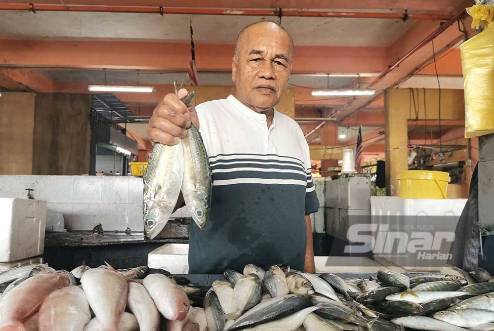
[{"label": "narrow grey ceiling strip just above the fluorescent tubes, behind man's head", "polygon": [[[46,78],[58,82],[78,82],[91,84],[173,84],[187,83],[185,72],[177,73],[143,73],[136,71],[101,71],[101,70],[40,70]],[[349,86],[356,77],[329,77],[324,75],[291,75],[289,83],[314,88],[344,88]],[[231,73],[199,73],[202,85],[233,85]]]}]

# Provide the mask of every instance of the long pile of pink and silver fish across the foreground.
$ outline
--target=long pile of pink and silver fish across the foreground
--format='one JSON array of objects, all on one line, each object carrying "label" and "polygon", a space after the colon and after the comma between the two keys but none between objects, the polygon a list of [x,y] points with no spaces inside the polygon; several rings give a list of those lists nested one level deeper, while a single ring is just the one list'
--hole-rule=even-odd
[{"label": "long pile of pink and silver fish across the foreground", "polygon": [[494,330],[494,278],[481,268],[342,279],[248,264],[223,278],[204,287],[147,266],[20,266],[0,273],[0,331]]}]

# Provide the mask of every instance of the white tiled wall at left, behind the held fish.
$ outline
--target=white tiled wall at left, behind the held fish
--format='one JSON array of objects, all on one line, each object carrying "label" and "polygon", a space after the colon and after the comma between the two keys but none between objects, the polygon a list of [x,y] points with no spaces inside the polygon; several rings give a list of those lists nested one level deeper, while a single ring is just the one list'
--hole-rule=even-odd
[{"label": "white tiled wall at left, behind the held fish", "polygon": [[[33,188],[37,200],[64,215],[67,230],[143,231],[141,177],[0,175],[1,198],[27,198]],[[184,208],[174,217],[185,217]]]}]

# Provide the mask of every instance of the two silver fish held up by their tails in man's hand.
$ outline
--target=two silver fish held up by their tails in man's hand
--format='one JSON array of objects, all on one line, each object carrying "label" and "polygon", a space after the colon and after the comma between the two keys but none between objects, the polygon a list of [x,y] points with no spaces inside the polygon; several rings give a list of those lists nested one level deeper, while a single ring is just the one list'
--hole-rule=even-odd
[{"label": "two silver fish held up by their tails in man's hand", "polygon": [[[189,106],[194,95],[193,91],[181,101]],[[143,178],[144,231],[148,238],[155,238],[163,230],[180,192],[192,219],[204,229],[210,209],[211,170],[201,134],[194,124],[176,145],[153,145]]]}]

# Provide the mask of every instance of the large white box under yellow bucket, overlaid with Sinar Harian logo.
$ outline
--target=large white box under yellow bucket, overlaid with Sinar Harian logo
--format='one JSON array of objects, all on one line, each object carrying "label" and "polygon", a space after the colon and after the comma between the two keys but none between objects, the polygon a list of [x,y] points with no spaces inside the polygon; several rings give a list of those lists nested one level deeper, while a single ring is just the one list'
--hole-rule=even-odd
[{"label": "large white box under yellow bucket, overlaid with Sinar Harian logo", "polygon": [[447,262],[466,201],[372,197],[374,256],[408,271],[439,271]]}]

